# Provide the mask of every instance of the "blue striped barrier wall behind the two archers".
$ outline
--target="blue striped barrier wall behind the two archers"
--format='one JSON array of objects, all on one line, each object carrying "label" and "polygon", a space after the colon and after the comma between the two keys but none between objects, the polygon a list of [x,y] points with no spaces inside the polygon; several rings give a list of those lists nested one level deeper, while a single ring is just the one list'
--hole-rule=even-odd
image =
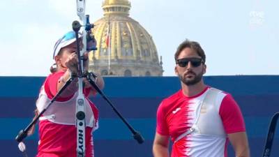
[{"label": "blue striped barrier wall behind the two archers", "polygon": [[[33,118],[35,101],[45,77],[0,77],[0,151],[3,157],[22,156],[15,136]],[[262,156],[271,116],[279,111],[279,76],[214,76],[204,81],[231,93],[246,121],[251,156]],[[180,89],[177,77],[106,77],[105,94],[130,124],[145,138],[137,144],[111,107],[96,96],[100,128],[94,133],[96,157],[151,157],[156,128],[156,110],[163,98]],[[271,154],[279,154],[279,135]],[[38,133],[27,137],[27,152],[35,156]],[[234,156],[229,148],[229,156]]]}]

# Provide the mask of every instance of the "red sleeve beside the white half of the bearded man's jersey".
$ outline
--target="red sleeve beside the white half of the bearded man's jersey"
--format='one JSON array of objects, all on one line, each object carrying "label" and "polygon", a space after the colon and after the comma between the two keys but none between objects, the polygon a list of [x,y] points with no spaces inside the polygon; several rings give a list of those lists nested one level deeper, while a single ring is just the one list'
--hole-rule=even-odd
[{"label": "red sleeve beside the white half of the bearded man's jersey", "polygon": [[237,133],[245,131],[245,123],[239,105],[230,94],[223,98],[219,110],[225,132]]}]

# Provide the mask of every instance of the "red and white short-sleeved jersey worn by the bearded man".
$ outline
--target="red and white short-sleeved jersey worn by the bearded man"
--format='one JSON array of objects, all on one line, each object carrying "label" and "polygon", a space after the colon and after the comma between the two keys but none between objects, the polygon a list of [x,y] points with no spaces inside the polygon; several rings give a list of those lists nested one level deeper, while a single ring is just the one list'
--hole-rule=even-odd
[{"label": "red and white short-sleeved jersey worn by the bearded man", "polygon": [[[157,112],[156,131],[170,136],[172,157],[226,157],[227,134],[245,131],[245,124],[239,106],[230,94],[223,91],[212,98],[206,87],[197,96],[187,97],[183,91],[165,98]],[[211,98],[204,104],[204,98]],[[179,137],[190,128],[193,133]]]}]

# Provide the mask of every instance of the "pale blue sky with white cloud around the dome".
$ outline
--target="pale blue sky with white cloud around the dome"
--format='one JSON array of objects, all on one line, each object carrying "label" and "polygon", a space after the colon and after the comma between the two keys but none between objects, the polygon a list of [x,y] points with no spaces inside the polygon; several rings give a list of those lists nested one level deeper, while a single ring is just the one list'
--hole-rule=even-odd
[{"label": "pale blue sky with white cloud around the dome", "polygon": [[[165,76],[184,39],[206,52],[206,75],[278,75],[278,1],[130,0],[130,17],[153,36]],[[101,0],[86,0],[91,22]],[[0,1],[0,75],[46,76],[55,41],[78,20],[75,0]]]}]

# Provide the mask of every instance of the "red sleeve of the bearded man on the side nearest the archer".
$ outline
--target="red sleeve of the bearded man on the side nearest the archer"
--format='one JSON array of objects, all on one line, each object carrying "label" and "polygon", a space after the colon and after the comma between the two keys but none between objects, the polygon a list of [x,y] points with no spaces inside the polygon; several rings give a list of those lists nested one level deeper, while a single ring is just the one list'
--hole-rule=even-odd
[{"label": "red sleeve of the bearded man on the side nearest the archer", "polygon": [[166,112],[164,111],[163,102],[160,103],[157,110],[157,127],[156,132],[160,135],[169,135],[169,129],[166,122]]}]

